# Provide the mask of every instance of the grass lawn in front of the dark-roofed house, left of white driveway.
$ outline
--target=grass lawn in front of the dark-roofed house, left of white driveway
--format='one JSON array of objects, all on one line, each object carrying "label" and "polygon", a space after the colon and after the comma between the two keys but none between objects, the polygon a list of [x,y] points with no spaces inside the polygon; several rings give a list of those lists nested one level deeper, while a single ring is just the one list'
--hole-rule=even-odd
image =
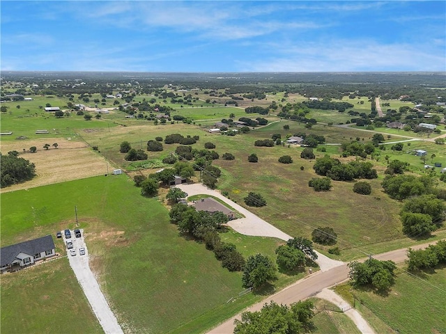
[{"label": "grass lawn in front of the dark-roofed house, left of white driveway", "polygon": [[104,333],[66,257],[2,275],[0,296],[2,333]]}]

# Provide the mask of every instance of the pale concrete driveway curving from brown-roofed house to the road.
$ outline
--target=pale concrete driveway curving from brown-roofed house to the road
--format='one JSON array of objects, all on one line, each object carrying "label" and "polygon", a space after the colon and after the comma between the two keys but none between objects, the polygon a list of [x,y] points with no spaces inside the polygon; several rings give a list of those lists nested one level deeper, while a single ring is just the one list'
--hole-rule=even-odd
[{"label": "pale concrete driveway curving from brown-roofed house to the road", "polygon": [[[236,230],[240,234],[252,235],[256,237],[275,237],[284,241],[293,239],[293,237],[291,237],[289,234],[286,234],[278,228],[275,228],[270,223],[267,223],[252,212],[249,212],[247,209],[241,207],[236,202],[233,202],[232,200],[224,197],[218,191],[208,189],[206,186],[203,186],[203,184],[178,184],[177,187],[188,193],[189,196],[200,194],[212,195],[220,198],[228,205],[231,205],[231,207],[245,216],[245,218],[234,219],[233,221],[229,221],[228,223],[228,225],[231,226],[233,230]],[[321,271],[328,271],[334,267],[339,267],[344,264],[344,262],[332,260],[330,259],[330,257],[326,257],[321,253],[316,252],[316,254],[318,255],[318,260],[316,260],[316,263],[321,268]]]}]

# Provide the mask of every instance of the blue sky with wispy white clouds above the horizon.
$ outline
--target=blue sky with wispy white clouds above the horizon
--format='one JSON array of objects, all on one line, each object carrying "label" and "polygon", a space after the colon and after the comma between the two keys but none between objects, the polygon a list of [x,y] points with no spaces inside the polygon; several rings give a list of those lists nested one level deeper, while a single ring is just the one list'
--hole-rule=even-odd
[{"label": "blue sky with wispy white clouds above the horizon", "polygon": [[445,71],[446,1],[1,1],[1,70]]}]

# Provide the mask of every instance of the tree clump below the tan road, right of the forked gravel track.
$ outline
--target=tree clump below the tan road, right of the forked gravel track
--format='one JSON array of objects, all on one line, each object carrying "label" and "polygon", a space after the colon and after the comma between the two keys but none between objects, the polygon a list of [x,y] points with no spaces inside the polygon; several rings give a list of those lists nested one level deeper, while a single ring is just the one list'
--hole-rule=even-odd
[{"label": "tree clump below the tan road, right of the forked gravel track", "polygon": [[373,258],[365,262],[353,261],[348,264],[351,284],[353,287],[371,286],[380,291],[390,289],[395,283],[393,261],[379,261]]}]

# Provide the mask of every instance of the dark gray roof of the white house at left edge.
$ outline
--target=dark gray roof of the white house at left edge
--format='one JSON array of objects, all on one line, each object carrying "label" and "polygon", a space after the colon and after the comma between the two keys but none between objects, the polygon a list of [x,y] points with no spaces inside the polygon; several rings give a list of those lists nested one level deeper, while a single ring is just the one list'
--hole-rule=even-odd
[{"label": "dark gray roof of the white house at left edge", "polygon": [[26,253],[34,256],[37,253],[45,252],[45,250],[54,249],[54,241],[51,235],[45,235],[38,239],[23,241],[20,244],[14,244],[2,247],[1,250],[1,266],[10,264],[20,253]]}]

